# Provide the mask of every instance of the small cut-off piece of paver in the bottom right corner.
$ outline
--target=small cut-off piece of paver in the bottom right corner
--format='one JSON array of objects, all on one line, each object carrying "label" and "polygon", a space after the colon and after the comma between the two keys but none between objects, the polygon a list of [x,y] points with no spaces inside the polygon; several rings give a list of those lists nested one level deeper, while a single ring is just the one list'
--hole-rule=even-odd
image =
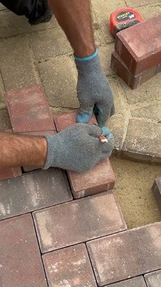
[{"label": "small cut-off piece of paver in the bottom right corner", "polygon": [[147,287],[161,286],[161,269],[144,275]]}]

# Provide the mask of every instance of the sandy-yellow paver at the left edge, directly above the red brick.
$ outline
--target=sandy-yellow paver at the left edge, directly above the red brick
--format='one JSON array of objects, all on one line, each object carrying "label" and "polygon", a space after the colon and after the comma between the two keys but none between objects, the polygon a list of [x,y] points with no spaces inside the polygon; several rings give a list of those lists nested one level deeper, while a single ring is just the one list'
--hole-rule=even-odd
[{"label": "sandy-yellow paver at the left edge, directly above the red brick", "polygon": [[36,83],[27,36],[1,40],[0,60],[5,90]]}]

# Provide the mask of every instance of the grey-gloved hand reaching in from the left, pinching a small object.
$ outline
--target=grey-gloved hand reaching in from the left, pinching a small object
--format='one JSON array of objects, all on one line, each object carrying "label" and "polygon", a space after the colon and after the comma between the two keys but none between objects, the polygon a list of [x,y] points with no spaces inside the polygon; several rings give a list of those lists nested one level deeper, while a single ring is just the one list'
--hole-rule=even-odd
[{"label": "grey-gloved hand reaching in from the left, pinching a small object", "polygon": [[[98,139],[102,132],[109,138],[108,142],[102,143]],[[48,151],[43,169],[55,166],[85,173],[111,155],[114,147],[113,135],[107,128],[102,131],[97,125],[77,123],[55,136],[46,135],[45,138]]]}]

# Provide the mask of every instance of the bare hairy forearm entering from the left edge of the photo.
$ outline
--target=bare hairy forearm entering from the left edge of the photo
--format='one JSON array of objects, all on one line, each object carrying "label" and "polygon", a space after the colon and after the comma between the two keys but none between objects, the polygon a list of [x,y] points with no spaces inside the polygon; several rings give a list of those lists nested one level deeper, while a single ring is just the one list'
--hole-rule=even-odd
[{"label": "bare hairy forearm entering from the left edge of the photo", "polygon": [[0,167],[44,166],[46,139],[0,132]]}]

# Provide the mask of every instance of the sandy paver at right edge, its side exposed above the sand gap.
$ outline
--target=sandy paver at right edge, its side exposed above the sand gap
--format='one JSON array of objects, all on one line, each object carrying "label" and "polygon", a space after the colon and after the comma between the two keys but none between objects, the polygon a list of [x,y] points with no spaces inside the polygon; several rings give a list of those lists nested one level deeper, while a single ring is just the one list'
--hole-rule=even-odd
[{"label": "sandy paver at right edge, its side exposed above the sand gap", "polygon": [[161,125],[130,119],[123,156],[141,161],[161,163]]}]

